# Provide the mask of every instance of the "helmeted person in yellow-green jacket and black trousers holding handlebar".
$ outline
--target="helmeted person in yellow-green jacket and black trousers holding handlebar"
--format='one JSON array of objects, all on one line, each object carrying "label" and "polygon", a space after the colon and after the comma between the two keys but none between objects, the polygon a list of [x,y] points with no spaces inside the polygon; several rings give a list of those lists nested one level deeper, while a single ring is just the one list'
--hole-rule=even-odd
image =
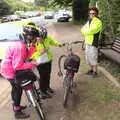
[{"label": "helmeted person in yellow-green jacket and black trousers holding handlebar", "polygon": [[[50,74],[52,67],[52,51],[50,46],[59,46],[62,44],[54,40],[51,36],[48,36],[47,29],[45,27],[40,27],[39,37],[37,37],[37,42],[35,44],[35,50],[30,59],[40,62],[37,69],[40,74],[39,85],[41,97],[51,98],[51,93],[53,89],[50,87]],[[34,47],[33,47],[34,48]]]}]

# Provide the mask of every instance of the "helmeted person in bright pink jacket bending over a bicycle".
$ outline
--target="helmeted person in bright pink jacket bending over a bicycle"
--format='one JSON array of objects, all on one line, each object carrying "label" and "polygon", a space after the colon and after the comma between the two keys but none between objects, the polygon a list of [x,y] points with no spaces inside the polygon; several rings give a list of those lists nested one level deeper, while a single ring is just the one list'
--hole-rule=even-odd
[{"label": "helmeted person in bright pink jacket bending over a bicycle", "polygon": [[[1,75],[7,79],[12,87],[11,96],[13,100],[13,111],[15,113],[15,118],[28,118],[29,115],[22,112],[26,106],[21,106],[21,96],[22,88],[17,82],[17,73],[23,70],[32,69],[37,65],[35,61],[25,62],[28,57],[30,57],[31,52],[29,51],[27,45],[34,43],[36,38],[39,36],[39,31],[32,27],[23,27],[23,33],[19,35],[18,40],[12,40],[9,42],[9,47],[7,49],[5,58],[1,62],[0,72]],[[24,75],[19,76],[23,79]],[[29,76],[28,76],[29,77]],[[17,82],[16,82],[17,81]]]}]

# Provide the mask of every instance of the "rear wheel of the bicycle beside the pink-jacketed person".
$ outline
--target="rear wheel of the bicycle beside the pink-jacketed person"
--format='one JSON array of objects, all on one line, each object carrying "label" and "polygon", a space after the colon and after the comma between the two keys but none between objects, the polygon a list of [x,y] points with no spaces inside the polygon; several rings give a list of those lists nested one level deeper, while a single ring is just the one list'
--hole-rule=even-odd
[{"label": "rear wheel of the bicycle beside the pink-jacketed person", "polygon": [[[42,104],[40,101],[38,101],[38,93],[36,89],[31,89],[26,91],[27,97],[29,98],[30,102],[32,103],[33,107],[35,108],[39,119],[40,120],[46,120],[45,115],[43,112]],[[37,96],[36,96],[37,95]]]}]

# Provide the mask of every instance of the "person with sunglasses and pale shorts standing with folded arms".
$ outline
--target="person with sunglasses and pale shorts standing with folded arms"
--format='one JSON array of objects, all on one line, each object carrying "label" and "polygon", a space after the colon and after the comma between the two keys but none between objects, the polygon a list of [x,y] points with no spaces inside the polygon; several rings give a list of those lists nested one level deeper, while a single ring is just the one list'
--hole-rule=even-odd
[{"label": "person with sunglasses and pale shorts standing with folded arms", "polygon": [[89,9],[89,18],[87,23],[82,27],[81,33],[85,37],[85,57],[86,62],[90,65],[90,70],[86,74],[97,77],[98,61],[98,42],[99,34],[102,30],[102,21],[97,17],[98,9],[92,7]]}]

